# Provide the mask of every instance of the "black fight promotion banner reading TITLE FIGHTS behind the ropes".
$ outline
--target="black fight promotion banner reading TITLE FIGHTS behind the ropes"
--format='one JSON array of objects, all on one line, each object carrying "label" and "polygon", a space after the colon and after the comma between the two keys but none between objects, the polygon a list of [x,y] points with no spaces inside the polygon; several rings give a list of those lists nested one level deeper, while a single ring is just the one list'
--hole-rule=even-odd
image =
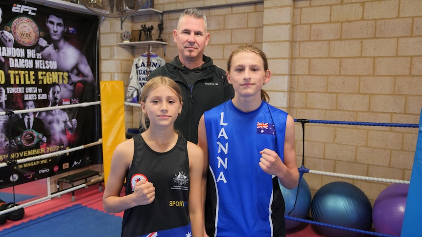
[{"label": "black fight promotion banner reading TITLE FIGHTS behind the ropes", "polygon": [[101,163],[92,146],[41,160],[20,159],[98,141],[98,17],[21,0],[0,2],[0,189]]}]

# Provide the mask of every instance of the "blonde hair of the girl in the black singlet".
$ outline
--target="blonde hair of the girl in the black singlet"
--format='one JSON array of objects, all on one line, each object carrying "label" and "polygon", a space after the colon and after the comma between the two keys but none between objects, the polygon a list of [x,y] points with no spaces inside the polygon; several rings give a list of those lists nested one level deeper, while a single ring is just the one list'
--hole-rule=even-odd
[{"label": "blonde hair of the girl in the black singlet", "polygon": [[[168,88],[170,88],[177,95],[177,98],[179,99],[180,103],[182,103],[183,101],[182,89],[180,89],[180,86],[177,85],[176,82],[164,76],[154,77],[148,80],[148,82],[142,88],[141,102],[145,103],[146,98],[151,93],[151,91],[153,91],[154,89],[160,86],[167,86]],[[147,118],[148,118],[148,115],[141,112],[141,126],[143,130],[148,129],[146,127]]]}]

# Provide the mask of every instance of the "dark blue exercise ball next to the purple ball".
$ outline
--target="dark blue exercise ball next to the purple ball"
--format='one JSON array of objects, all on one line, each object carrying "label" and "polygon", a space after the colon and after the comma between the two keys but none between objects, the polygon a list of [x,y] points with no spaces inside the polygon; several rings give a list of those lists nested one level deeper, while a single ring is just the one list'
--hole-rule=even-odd
[{"label": "dark blue exercise ball next to the purple ball", "polygon": [[[372,205],[358,187],[347,182],[332,182],[321,187],[311,204],[315,221],[346,228],[369,231],[372,226]],[[326,237],[365,237],[366,235],[317,225]]]}]

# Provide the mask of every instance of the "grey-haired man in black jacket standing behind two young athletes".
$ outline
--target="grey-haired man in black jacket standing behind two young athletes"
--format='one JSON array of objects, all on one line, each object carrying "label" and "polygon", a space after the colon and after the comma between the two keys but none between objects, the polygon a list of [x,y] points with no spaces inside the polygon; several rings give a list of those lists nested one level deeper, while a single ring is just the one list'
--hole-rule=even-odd
[{"label": "grey-haired man in black jacket standing behind two young athletes", "polygon": [[174,127],[193,143],[198,143],[198,124],[202,114],[234,96],[233,86],[227,82],[226,72],[213,65],[204,55],[210,40],[207,18],[196,8],[185,10],[173,31],[179,55],[149,74],[149,79],[167,76],[173,79],[183,93],[182,114]]}]

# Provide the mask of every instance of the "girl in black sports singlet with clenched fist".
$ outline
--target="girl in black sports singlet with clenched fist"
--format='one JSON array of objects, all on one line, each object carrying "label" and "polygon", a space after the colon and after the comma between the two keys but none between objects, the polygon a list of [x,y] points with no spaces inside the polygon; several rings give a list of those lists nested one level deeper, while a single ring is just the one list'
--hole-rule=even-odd
[{"label": "girl in black sports singlet with clenched fist", "polygon": [[173,80],[149,80],[141,96],[141,121],[145,127],[148,117],[149,128],[113,153],[103,205],[107,212],[124,211],[122,237],[203,235],[203,153],[174,130],[182,104]]}]

